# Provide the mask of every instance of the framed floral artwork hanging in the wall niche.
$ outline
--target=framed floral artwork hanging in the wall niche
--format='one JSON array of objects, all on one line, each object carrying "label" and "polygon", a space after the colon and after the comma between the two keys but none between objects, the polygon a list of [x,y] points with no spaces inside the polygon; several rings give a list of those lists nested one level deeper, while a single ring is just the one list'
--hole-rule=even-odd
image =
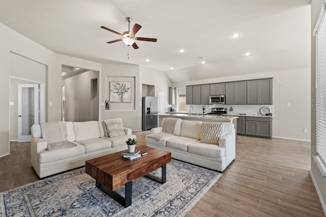
[{"label": "framed floral artwork hanging in the wall niche", "polygon": [[131,82],[110,81],[110,102],[130,103]]}]

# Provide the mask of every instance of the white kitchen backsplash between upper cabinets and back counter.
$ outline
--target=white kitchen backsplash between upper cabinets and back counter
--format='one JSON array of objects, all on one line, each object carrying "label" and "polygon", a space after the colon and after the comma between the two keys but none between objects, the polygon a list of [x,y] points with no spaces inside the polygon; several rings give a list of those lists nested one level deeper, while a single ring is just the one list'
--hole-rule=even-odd
[{"label": "white kitchen backsplash between upper cabinets and back counter", "polygon": [[[185,113],[189,113],[190,107],[193,106],[194,109],[192,109],[192,113],[196,114],[202,114],[203,109],[202,107],[205,106],[205,114],[210,113],[212,108],[227,108],[228,114],[230,114],[229,108],[232,106],[233,111],[232,114],[239,114],[239,113],[246,113],[247,115],[261,115],[260,109],[262,107],[268,107],[271,110],[271,113],[275,115],[274,113],[274,105],[224,105],[224,104],[215,104],[215,105],[187,105]],[[170,105],[171,107],[171,105]],[[176,109],[176,106],[175,106]],[[178,111],[183,112],[183,111]]]}]

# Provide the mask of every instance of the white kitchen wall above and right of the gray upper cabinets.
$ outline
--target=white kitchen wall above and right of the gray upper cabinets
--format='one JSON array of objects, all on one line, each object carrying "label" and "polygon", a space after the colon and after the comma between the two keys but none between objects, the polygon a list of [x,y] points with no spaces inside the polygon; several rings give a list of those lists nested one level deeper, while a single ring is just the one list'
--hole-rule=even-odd
[{"label": "white kitchen wall above and right of the gray upper cabinets", "polygon": [[[310,141],[310,68],[173,83],[175,87],[273,77],[273,136]],[[287,107],[290,103],[290,107]],[[304,133],[308,129],[308,133]]]}]

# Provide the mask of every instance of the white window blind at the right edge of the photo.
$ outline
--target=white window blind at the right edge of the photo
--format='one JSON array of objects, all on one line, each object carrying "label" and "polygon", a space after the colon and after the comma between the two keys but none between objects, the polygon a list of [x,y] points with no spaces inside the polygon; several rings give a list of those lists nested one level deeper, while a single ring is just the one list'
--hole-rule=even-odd
[{"label": "white window blind at the right edge of the photo", "polygon": [[316,36],[316,152],[326,167],[326,16],[320,14]]}]

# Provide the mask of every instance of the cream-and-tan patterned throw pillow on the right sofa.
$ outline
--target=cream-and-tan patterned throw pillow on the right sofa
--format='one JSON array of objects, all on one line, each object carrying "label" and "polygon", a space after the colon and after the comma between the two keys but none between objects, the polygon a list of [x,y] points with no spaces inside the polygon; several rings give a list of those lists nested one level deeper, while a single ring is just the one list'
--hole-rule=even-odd
[{"label": "cream-and-tan patterned throw pillow on the right sofa", "polygon": [[224,136],[224,123],[203,122],[200,142],[218,145],[222,136]]}]

